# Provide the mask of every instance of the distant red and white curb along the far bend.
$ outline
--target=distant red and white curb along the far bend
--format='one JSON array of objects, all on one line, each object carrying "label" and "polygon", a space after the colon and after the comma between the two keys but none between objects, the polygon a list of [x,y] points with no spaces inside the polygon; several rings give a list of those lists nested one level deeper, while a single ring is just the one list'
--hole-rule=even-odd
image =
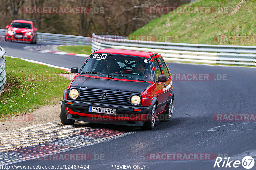
[{"label": "distant red and white curb along the far bend", "polygon": [[58,46],[76,46],[76,45],[46,45],[46,46],[25,46],[23,49],[29,51],[36,51],[40,53],[52,53],[58,55],[71,55],[77,57],[89,57],[87,54],[76,54],[76,53],[67,53],[57,49]]}]

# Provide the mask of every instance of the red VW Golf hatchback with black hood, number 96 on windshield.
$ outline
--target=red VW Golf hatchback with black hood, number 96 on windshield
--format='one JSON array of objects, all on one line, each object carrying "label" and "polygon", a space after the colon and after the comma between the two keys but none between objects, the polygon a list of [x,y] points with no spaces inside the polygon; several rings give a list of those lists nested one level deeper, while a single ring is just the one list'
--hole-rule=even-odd
[{"label": "red VW Golf hatchback with black hood, number 96 on windshield", "polygon": [[158,116],[169,121],[172,76],[157,53],[101,49],[93,52],[64,91],[61,122],[75,120],[153,129]]}]

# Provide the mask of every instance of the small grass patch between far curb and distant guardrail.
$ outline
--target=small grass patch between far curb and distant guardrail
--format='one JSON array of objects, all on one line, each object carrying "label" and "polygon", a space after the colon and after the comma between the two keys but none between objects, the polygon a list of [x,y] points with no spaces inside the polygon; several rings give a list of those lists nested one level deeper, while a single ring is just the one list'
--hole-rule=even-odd
[{"label": "small grass patch between far curb and distant guardrail", "polygon": [[88,54],[90,55],[92,53],[91,45],[85,45],[85,46],[59,46],[57,47],[58,50],[65,51],[68,53],[76,53],[76,54]]}]

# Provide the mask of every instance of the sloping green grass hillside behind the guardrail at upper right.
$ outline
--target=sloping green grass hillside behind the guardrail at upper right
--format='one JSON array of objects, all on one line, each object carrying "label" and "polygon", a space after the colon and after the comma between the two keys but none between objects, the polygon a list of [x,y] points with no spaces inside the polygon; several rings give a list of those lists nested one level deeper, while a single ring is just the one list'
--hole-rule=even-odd
[{"label": "sloping green grass hillside behind the guardrail at upper right", "polygon": [[[196,0],[182,6],[212,7],[216,11],[171,12],[131,35],[152,35],[158,41],[177,43],[255,46],[255,0]],[[234,36],[237,39],[232,39]]]}]

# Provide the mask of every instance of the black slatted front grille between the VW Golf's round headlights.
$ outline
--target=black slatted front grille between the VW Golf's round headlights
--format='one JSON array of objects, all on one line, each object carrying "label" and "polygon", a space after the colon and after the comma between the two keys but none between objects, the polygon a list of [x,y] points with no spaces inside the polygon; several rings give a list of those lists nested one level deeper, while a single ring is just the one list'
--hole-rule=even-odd
[{"label": "black slatted front grille between the VW Golf's round headlights", "polygon": [[[106,99],[102,99],[101,95],[103,93],[108,95]],[[88,102],[97,102],[97,103],[113,103],[113,104],[131,105],[129,102],[130,93],[101,90],[101,89],[80,89],[80,96],[78,100],[88,101]]]}]

